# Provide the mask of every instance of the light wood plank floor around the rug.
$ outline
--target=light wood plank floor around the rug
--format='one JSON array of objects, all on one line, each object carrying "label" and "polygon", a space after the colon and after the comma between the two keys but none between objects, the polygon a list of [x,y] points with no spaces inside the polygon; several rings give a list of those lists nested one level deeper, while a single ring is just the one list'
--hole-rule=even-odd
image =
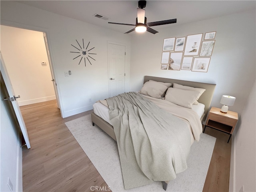
[{"label": "light wood plank floor around the rug", "polygon": [[[20,107],[31,148],[23,147],[23,191],[108,191],[92,162],[86,156],[65,122],[92,111],[61,118],[56,100]],[[217,138],[204,184],[206,191],[228,191],[231,141],[228,135],[210,128],[205,133]],[[172,186],[168,186],[172,187]]]}]

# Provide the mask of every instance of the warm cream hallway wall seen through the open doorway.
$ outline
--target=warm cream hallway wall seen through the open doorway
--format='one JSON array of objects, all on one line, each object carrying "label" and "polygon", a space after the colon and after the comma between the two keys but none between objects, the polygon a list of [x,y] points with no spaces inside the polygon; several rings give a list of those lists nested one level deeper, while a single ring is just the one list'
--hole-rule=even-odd
[{"label": "warm cream hallway wall seen through the open doorway", "polygon": [[[42,32],[1,25],[1,52],[19,106],[54,100]],[[46,62],[42,66],[41,62]]]}]

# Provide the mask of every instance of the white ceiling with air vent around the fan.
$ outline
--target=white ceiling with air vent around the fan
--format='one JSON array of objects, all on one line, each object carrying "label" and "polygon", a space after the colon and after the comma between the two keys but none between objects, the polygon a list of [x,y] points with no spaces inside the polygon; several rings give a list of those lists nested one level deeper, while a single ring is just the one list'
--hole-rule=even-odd
[{"label": "white ceiling with air vent around the fan", "polygon": [[[131,30],[133,26],[108,24],[108,22],[135,24],[136,8],[138,8],[137,0],[22,0],[18,2],[122,33]],[[147,22],[177,18],[176,24],[152,26],[154,30],[158,30],[255,8],[255,0],[148,0],[144,9]],[[94,17],[96,13],[108,17],[109,20]]]}]

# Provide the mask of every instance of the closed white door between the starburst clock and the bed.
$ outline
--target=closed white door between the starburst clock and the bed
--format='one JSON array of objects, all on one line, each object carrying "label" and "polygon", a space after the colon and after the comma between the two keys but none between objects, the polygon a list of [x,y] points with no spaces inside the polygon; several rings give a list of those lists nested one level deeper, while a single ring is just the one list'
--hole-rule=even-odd
[{"label": "closed white door between the starburst clock and the bed", "polygon": [[125,46],[108,43],[110,97],[124,93]]}]

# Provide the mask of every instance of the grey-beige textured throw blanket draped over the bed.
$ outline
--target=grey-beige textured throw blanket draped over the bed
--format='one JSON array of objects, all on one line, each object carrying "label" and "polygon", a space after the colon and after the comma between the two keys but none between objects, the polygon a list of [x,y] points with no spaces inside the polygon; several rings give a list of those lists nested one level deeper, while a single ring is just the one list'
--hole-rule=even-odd
[{"label": "grey-beige textured throw blanket draped over the bed", "polygon": [[106,101],[116,134],[125,189],[172,180],[177,173],[186,170],[190,151],[186,122],[136,92]]}]

